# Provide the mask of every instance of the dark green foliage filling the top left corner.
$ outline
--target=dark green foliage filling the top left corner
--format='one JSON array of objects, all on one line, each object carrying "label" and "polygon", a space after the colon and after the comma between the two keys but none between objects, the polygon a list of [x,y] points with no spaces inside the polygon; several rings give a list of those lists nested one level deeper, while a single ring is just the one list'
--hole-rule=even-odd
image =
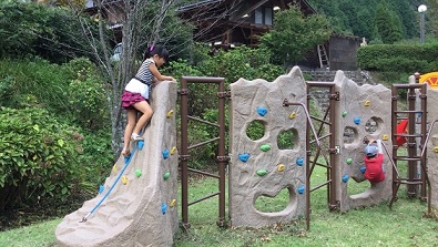
[{"label": "dark green foliage filling the top left corner", "polygon": [[[86,38],[77,17],[65,8],[0,2],[0,34],[4,38],[0,40],[0,58],[38,55],[60,63],[88,55]],[[90,19],[81,21],[90,22]],[[95,28],[90,27],[90,32],[95,34]]]}]

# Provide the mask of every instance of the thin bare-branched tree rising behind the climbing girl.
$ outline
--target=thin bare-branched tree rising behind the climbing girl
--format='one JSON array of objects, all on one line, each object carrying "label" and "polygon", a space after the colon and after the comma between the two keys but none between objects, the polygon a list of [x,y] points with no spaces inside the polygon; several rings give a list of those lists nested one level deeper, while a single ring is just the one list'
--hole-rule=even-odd
[{"label": "thin bare-branched tree rising behind the climbing girl", "polygon": [[[64,0],[74,8],[73,0]],[[180,21],[174,12],[173,0],[105,0],[94,1],[98,13],[95,16],[99,35],[93,35],[90,30],[93,23],[82,21],[83,17],[78,13],[82,23],[83,35],[106,79],[104,82],[105,99],[111,115],[112,147],[114,157],[121,151],[123,136],[123,111],[120,104],[120,95],[125,84],[133,78],[140,61],[142,51],[149,45],[162,43],[167,45],[171,54],[183,54],[190,49],[192,27]],[[110,61],[110,40],[105,14],[123,13],[122,25],[122,53],[118,63]]]}]

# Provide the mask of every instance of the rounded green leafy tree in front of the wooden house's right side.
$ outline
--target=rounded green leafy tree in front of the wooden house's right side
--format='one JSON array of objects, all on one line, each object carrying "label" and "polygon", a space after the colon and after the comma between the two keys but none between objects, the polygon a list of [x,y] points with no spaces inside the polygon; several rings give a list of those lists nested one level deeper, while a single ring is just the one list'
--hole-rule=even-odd
[{"label": "rounded green leafy tree in front of the wooden house's right side", "polygon": [[273,52],[275,61],[288,65],[302,60],[317,44],[326,42],[330,33],[324,16],[304,17],[299,8],[289,6],[289,9],[275,16],[273,29],[261,41],[262,47]]}]

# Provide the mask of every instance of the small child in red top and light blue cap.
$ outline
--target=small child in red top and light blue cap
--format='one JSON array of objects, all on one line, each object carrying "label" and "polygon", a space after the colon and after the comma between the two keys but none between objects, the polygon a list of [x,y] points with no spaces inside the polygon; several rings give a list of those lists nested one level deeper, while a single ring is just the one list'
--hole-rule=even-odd
[{"label": "small child in red top and light blue cap", "polygon": [[[377,143],[377,146],[374,144]],[[385,179],[385,172],[383,168],[384,154],[381,152],[381,141],[375,142],[369,141],[369,144],[365,147],[365,178],[371,183],[379,183]]]}]

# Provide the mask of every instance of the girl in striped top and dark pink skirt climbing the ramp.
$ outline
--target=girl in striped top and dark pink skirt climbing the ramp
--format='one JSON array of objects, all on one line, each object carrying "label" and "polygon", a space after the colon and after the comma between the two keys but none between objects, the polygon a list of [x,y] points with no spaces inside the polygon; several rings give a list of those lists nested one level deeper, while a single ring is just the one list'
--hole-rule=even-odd
[{"label": "girl in striped top and dark pink skirt climbing the ramp", "polygon": [[[175,81],[172,76],[163,75],[157,68],[169,59],[169,51],[163,45],[152,45],[144,52],[144,61],[135,76],[126,84],[122,93],[122,107],[126,110],[128,124],[124,130],[122,155],[130,156],[130,141],[143,140],[142,128],[149,123],[153,111],[149,104],[151,85],[159,81]],[[142,115],[137,119],[137,113]]]}]

